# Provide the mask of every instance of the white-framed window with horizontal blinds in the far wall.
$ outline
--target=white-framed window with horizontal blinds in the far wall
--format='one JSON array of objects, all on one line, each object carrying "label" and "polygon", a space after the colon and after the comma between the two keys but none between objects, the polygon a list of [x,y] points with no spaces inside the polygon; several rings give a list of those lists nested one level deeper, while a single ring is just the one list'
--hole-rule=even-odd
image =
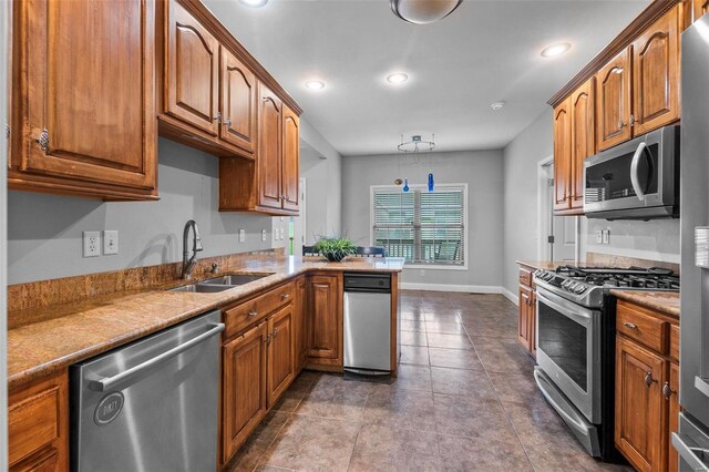
[{"label": "white-framed window with horizontal blinds in the far wall", "polygon": [[372,245],[415,265],[465,266],[466,185],[372,186]]}]

